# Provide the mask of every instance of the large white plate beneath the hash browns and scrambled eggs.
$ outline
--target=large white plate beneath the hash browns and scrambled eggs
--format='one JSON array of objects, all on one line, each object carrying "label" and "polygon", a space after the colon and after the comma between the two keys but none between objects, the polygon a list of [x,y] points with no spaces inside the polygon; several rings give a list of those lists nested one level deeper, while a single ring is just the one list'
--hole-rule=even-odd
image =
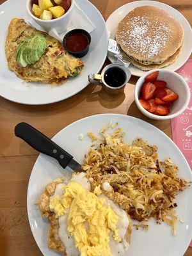
[{"label": "large white plate beneath the hash browns and scrambled eggs", "polygon": [[[104,114],[83,118],[73,124],[68,125],[58,132],[52,139],[60,147],[65,148],[74,158],[83,163],[83,156],[88,152],[92,144],[86,136],[88,131],[98,134],[101,127],[113,120],[118,122],[120,127],[126,132],[125,141],[131,143],[132,140],[141,136],[149,143],[154,143],[159,147],[160,160],[171,157],[179,166],[179,175],[187,180],[192,180],[191,170],[186,159],[179,148],[159,129],[138,118],[125,115]],[[79,141],[79,134],[84,134],[84,140]],[[51,157],[40,154],[31,172],[28,186],[28,217],[33,236],[38,247],[45,256],[56,256],[56,253],[47,248],[48,223],[40,216],[40,212],[35,206],[35,202],[42,193],[45,185],[51,180],[68,174],[61,166],[51,159]],[[188,248],[192,234],[192,191],[186,189],[177,197],[177,213],[185,220],[184,224],[178,223],[177,236],[173,237],[170,227],[166,224],[157,225],[154,220],[150,221],[147,232],[137,231],[133,228],[130,250],[127,256],[182,256]]]}]

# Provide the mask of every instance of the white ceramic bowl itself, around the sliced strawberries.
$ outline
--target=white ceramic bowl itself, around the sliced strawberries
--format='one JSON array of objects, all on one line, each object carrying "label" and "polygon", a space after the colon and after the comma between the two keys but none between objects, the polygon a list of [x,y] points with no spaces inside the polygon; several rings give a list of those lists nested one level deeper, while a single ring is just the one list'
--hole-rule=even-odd
[{"label": "white ceramic bowl itself, around the sliced strawberries", "polygon": [[[173,92],[179,95],[179,98],[173,102],[170,108],[170,113],[166,116],[158,116],[148,112],[141,106],[139,101],[141,87],[145,81],[145,77],[148,76],[148,74],[151,74],[155,71],[159,71],[159,76],[157,77],[157,79],[165,81],[167,83],[168,88],[170,88],[171,90],[173,90]],[[138,109],[140,109],[143,115],[155,120],[167,120],[180,115],[187,108],[190,100],[190,90],[184,78],[182,78],[179,74],[171,70],[157,68],[148,71],[144,76],[140,77],[134,89],[134,99],[136,105],[138,106]]]}]

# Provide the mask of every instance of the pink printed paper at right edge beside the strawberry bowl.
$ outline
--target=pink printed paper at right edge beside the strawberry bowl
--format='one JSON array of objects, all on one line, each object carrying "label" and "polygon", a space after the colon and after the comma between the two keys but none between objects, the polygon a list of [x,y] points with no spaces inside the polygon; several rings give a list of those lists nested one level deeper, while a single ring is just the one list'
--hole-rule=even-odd
[{"label": "pink printed paper at right edge beside the strawberry bowl", "polygon": [[186,157],[192,169],[192,60],[188,60],[177,73],[184,77],[189,85],[191,99],[188,108],[171,120],[172,138]]}]

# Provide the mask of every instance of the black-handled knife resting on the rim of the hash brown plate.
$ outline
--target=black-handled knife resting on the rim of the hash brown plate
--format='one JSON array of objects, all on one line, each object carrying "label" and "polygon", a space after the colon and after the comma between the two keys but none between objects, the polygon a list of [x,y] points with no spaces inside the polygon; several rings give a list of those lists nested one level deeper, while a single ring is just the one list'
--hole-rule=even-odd
[{"label": "black-handled knife resting on the rim of the hash brown plate", "polygon": [[70,154],[31,125],[26,123],[17,124],[15,135],[26,141],[38,152],[56,159],[63,168],[69,166],[76,172],[83,172],[81,164],[77,163]]}]

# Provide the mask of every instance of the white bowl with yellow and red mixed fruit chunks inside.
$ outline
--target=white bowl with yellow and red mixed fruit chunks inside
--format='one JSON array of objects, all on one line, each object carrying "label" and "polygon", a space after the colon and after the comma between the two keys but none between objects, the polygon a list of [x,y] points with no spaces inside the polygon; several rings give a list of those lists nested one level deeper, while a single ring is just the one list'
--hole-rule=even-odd
[{"label": "white bowl with yellow and red mixed fruit chunks inside", "polygon": [[74,0],[28,0],[28,14],[47,31],[55,28],[58,33],[67,29]]}]

